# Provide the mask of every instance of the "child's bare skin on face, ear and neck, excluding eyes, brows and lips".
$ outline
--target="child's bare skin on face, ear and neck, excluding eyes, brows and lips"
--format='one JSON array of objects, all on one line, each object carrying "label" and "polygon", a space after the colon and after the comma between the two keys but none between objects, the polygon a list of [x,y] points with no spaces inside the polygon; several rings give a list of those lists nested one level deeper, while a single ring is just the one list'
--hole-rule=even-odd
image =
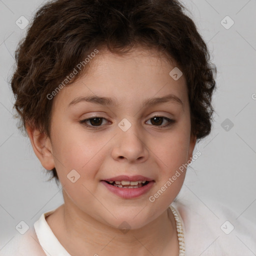
[{"label": "child's bare skin on face, ear and neck, excluding eyes, brows and lips", "polygon": [[[175,66],[153,49],[137,47],[125,55],[100,50],[87,74],[54,97],[50,138],[27,126],[36,156],[44,168],[56,168],[63,187],[64,204],[46,221],[70,254],[178,255],[175,220],[167,209],[185,171],[154,202],[148,199],[187,163],[196,142],[190,135],[185,77],[169,75]],[[145,99],[169,93],[183,105],[168,101],[141,107]],[[115,97],[120,104],[84,101],[68,107],[75,97],[86,95]],[[105,118],[97,129],[79,123],[94,114]],[[155,114],[175,122],[155,124]],[[131,123],[127,131],[118,126],[123,118]],[[67,178],[72,169],[80,175],[74,183]],[[147,193],[124,199],[100,182],[120,174],[140,174],[155,182]],[[123,221],[130,226],[126,233],[118,228]]]}]

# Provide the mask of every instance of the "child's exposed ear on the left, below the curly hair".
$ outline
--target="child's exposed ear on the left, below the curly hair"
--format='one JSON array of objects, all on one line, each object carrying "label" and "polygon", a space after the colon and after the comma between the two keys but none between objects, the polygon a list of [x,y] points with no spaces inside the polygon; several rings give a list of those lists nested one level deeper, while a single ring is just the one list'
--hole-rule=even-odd
[{"label": "child's exposed ear on the left, below the curly hair", "polygon": [[41,165],[47,170],[54,168],[55,164],[49,137],[45,133],[41,133],[37,128],[30,125],[26,125],[26,131],[34,153],[41,162]]}]

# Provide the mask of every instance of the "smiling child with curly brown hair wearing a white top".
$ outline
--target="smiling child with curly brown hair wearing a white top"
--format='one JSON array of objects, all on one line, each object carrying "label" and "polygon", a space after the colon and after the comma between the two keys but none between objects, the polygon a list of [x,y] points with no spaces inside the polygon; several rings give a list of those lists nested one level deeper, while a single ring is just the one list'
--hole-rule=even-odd
[{"label": "smiling child with curly brown hair wearing a white top", "polygon": [[1,255],[250,253],[238,238],[253,253],[249,221],[227,236],[228,209],[216,219],[174,200],[210,133],[215,89],[207,46],[177,0],[48,2],[15,57],[14,106],[64,204]]}]

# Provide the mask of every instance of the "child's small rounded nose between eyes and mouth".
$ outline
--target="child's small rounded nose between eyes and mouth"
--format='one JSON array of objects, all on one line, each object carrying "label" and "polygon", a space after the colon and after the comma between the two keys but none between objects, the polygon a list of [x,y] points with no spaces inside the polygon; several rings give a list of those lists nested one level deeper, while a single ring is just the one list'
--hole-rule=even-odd
[{"label": "child's small rounded nose between eyes and mouth", "polygon": [[137,125],[132,124],[126,131],[117,127],[117,133],[112,149],[113,159],[129,162],[146,161],[149,152],[145,142],[145,133],[142,133]]}]

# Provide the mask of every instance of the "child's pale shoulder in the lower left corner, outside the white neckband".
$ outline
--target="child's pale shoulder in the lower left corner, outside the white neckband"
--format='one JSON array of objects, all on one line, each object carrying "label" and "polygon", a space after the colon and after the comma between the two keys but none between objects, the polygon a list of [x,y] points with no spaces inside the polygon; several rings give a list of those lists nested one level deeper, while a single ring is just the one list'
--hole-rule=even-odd
[{"label": "child's pale shoulder in the lower left corner, outside the white neckband", "polygon": [[24,234],[13,234],[0,250],[0,256],[45,256],[35,233],[34,227]]}]

